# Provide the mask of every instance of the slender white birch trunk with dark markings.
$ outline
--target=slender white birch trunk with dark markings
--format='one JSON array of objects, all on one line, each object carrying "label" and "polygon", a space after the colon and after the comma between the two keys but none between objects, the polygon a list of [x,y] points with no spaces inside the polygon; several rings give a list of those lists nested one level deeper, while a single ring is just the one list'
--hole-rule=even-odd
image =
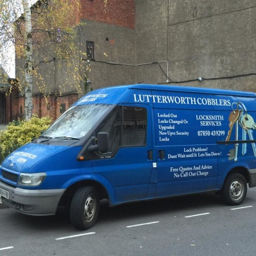
[{"label": "slender white birch trunk with dark markings", "polygon": [[24,9],[25,27],[26,27],[26,56],[25,56],[25,119],[32,117],[32,26],[31,26],[31,10],[29,0],[22,0]]}]

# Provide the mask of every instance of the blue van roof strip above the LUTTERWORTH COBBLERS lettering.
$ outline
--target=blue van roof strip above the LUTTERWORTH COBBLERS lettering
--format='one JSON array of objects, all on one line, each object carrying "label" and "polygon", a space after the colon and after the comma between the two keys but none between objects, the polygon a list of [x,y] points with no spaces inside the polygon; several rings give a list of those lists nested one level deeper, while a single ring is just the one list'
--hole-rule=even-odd
[{"label": "blue van roof strip above the LUTTERWORTH COBBLERS lettering", "polygon": [[[243,97],[256,97],[254,92],[242,92],[237,90],[224,90],[224,89],[212,89],[212,88],[200,88],[190,86],[177,86],[177,85],[156,85],[156,84],[134,84],[134,85],[119,85],[113,86],[113,88],[125,89],[143,89],[143,90],[162,90],[172,92],[191,92],[191,93],[205,93],[205,94],[221,94]],[[109,87],[112,88],[112,87]]]}]

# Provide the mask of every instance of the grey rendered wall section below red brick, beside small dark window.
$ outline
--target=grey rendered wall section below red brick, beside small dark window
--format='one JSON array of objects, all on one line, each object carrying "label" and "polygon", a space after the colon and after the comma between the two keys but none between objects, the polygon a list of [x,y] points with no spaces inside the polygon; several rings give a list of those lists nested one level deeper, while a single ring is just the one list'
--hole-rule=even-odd
[{"label": "grey rendered wall section below red brick, beside small dark window", "polygon": [[86,40],[93,41],[95,47],[95,61],[90,62],[88,73],[92,88],[134,84],[135,31],[100,22],[84,22],[85,26],[81,26],[82,44],[86,44]]}]

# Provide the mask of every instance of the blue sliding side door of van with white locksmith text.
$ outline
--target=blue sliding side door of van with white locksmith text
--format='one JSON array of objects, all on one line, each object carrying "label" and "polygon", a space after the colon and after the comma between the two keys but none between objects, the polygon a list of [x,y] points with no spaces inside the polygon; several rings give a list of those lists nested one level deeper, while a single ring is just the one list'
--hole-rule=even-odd
[{"label": "blue sliding side door of van with white locksmith text", "polygon": [[207,105],[210,102],[207,98],[211,96],[180,92],[164,92],[163,96],[158,92],[157,95],[154,103],[158,169],[155,197],[213,190],[217,177],[215,131],[221,117]]}]

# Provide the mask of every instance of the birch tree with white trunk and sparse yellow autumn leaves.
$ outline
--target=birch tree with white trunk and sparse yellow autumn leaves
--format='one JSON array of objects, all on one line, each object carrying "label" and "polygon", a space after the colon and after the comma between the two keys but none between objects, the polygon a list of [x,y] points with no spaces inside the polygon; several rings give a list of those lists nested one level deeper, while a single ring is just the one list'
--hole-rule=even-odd
[{"label": "birch tree with white trunk and sparse yellow autumn leaves", "polygon": [[68,69],[77,92],[84,90],[88,67],[81,62],[85,47],[80,44],[82,40],[77,40],[79,13],[79,0],[40,0],[32,6],[30,0],[0,0],[0,48],[6,52],[13,44],[16,59],[24,61],[16,78],[25,95],[26,120],[32,115],[35,85],[47,95],[40,65],[58,61],[61,67],[57,68]]}]

